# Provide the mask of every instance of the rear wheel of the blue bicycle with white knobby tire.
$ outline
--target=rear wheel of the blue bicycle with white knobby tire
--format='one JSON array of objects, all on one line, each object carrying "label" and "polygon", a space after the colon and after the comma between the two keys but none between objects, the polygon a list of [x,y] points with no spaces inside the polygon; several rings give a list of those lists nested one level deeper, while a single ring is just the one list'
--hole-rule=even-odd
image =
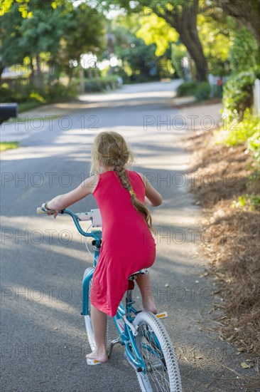
[{"label": "rear wheel of the blue bicycle with white knobby tire", "polygon": [[139,331],[136,346],[146,364],[146,373],[136,372],[141,391],[181,392],[178,361],[161,321],[151,312],[141,311],[133,324]]}]

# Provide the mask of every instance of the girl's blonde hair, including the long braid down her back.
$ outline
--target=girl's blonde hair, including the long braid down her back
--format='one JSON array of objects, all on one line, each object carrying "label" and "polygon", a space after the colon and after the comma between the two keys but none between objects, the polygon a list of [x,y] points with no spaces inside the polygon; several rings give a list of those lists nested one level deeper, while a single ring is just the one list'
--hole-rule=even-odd
[{"label": "girl's blonde hair, including the long braid down her back", "polygon": [[126,140],[117,132],[100,132],[94,138],[92,146],[92,165],[91,174],[98,173],[100,167],[114,166],[121,185],[129,191],[131,202],[135,209],[141,212],[146,220],[149,229],[154,233],[151,214],[146,205],[136,198],[128,175],[126,174],[125,165],[131,165],[134,160],[133,153],[129,150]]}]

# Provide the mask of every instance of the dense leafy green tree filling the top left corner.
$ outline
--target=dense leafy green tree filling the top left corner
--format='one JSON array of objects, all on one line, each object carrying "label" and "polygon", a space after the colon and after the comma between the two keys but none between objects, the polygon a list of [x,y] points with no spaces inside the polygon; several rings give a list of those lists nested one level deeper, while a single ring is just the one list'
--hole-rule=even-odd
[{"label": "dense leafy green tree filling the top left corner", "polygon": [[31,0],[26,5],[28,17],[23,18],[18,10],[20,6],[13,2],[9,12],[1,17],[2,70],[13,63],[23,63],[23,58],[27,57],[31,62],[33,83],[42,87],[45,63],[52,67],[49,76],[56,69],[57,72],[67,71],[71,78],[74,69],[70,67],[71,61],[80,63],[82,53],[102,51],[104,17],[97,17],[85,3],[77,7],[70,4],[71,8],[65,12],[51,0]]}]

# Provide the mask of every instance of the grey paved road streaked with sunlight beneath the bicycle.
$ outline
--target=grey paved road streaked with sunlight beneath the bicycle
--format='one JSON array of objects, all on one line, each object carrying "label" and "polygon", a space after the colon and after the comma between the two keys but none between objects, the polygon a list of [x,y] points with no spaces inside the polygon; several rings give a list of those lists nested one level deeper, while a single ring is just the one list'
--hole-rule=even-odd
[{"label": "grey paved road streaked with sunlight beneath the bicycle", "polygon": [[[152,209],[158,256],[151,277],[158,309],[169,314],[165,325],[180,361],[184,391],[225,390],[223,366],[237,365],[234,349],[200,328],[215,299],[212,284],[200,277],[205,261],[193,244],[200,209],[185,184],[187,126],[171,105],[178,83],[82,96],[81,103],[58,105],[56,119],[43,109],[44,126],[30,124],[22,147],[2,155],[2,391],[139,390],[121,347],[106,365],[87,366],[80,285],[90,254],[68,217],[54,221],[35,213],[42,202],[87,176],[99,130],[124,135],[136,154],[135,170],[146,173],[163,195],[163,205]],[[92,207],[94,199],[87,197],[72,210]]]}]

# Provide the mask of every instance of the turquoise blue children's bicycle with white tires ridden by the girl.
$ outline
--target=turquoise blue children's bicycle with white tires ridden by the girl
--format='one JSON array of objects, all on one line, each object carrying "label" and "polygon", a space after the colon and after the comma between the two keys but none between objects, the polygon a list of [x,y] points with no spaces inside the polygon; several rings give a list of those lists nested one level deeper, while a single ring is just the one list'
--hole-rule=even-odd
[{"label": "turquoise blue children's bicycle with white tires ridden by the girl", "polygon": [[[40,214],[48,213],[44,207],[38,207]],[[93,267],[85,270],[82,280],[82,316],[85,318],[87,338],[92,351],[95,349],[94,334],[91,322],[90,289],[94,268],[97,265],[102,244],[102,220],[98,209],[75,214],[71,210],[61,210],[60,214],[72,217],[78,232],[84,237],[92,237],[94,245]],[[84,231],[80,222],[92,222],[92,231]],[[88,249],[89,250],[89,249]],[[90,251],[89,251],[90,252]],[[168,333],[160,319],[167,313],[152,314],[149,311],[138,311],[134,308],[132,291],[134,280],[140,274],[147,274],[147,269],[131,274],[126,292],[126,306],[119,304],[117,314],[113,317],[119,336],[109,347],[108,357],[112,356],[115,344],[124,346],[124,357],[136,371],[142,392],[167,391],[181,392],[180,371],[173,346]],[[96,361],[97,362],[97,361]]]}]

